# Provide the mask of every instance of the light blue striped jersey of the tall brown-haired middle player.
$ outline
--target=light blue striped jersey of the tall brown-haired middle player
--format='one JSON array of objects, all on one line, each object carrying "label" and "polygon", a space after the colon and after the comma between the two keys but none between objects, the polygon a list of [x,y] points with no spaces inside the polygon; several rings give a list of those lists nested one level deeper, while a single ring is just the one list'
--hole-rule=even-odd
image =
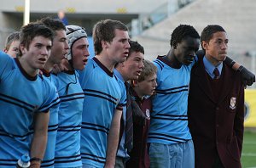
[{"label": "light blue striped jersey of the tall brown-haired middle player", "polygon": [[[103,167],[106,162],[107,137],[115,109],[125,104],[125,87],[101,62],[90,59],[79,72],[84,90],[81,130],[81,155],[84,165]],[[117,137],[118,138],[118,137]]]}]

